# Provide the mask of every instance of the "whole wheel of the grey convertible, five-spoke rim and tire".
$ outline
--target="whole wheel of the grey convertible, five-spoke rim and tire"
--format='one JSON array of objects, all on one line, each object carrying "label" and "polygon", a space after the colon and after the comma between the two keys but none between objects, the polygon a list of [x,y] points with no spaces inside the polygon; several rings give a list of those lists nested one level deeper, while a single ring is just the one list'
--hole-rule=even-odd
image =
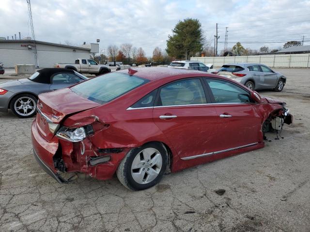
[{"label": "whole wheel of the grey convertible, five-spoke rim and tire", "polygon": [[35,115],[37,106],[36,98],[31,94],[20,94],[11,101],[10,108],[12,112],[21,118],[32,117]]}]

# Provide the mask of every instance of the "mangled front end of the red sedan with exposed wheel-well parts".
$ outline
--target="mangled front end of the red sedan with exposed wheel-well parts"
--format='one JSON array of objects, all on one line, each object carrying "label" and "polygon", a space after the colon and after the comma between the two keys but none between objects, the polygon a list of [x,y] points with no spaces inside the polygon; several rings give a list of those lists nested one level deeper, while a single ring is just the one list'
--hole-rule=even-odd
[{"label": "mangled front end of the red sedan with exposed wheel-well parts", "polygon": [[[267,99],[267,101],[268,100],[270,101],[270,99]],[[286,108],[286,103],[285,102],[281,102],[281,103],[277,102],[277,103],[282,106],[281,109],[277,109],[273,111],[272,113],[270,113],[268,118],[263,123],[262,130],[263,130],[264,140],[268,140],[265,135],[265,133],[268,131],[275,132],[277,134],[276,140],[278,140],[279,137],[281,137],[281,132],[282,132],[284,123],[287,125],[293,124],[293,116],[289,113],[289,109]]]}]

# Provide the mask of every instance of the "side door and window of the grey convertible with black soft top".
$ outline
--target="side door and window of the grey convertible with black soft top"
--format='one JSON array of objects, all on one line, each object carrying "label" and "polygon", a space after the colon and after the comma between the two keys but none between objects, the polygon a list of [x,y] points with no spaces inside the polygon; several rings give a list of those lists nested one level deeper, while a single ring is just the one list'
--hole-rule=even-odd
[{"label": "side door and window of the grey convertible with black soft top", "polygon": [[56,73],[51,76],[50,90],[53,91],[66,88],[81,81],[83,81],[83,79],[74,73]]}]

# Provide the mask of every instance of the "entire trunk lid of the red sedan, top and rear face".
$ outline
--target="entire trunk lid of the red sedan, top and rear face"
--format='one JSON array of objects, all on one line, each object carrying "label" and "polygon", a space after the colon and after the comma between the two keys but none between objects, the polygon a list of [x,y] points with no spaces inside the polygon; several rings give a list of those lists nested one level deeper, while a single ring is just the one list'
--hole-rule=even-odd
[{"label": "entire trunk lid of the red sedan, top and rear face", "polygon": [[[100,106],[70,90],[62,88],[57,91],[39,95],[36,123],[43,138],[51,140],[65,116]],[[51,131],[50,129],[56,129]]]}]

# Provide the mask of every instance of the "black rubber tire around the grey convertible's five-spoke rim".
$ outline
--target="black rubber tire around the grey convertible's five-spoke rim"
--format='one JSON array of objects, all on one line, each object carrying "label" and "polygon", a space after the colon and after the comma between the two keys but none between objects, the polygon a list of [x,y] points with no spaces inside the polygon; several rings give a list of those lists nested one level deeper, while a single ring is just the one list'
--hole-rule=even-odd
[{"label": "black rubber tire around the grey convertible's five-spoke rim", "polygon": [[[22,115],[21,112],[19,112],[18,110],[16,110],[16,106],[17,104],[19,105],[18,107],[21,107],[22,106],[22,103],[18,102],[20,99],[29,99],[31,101],[29,103],[29,108],[26,107],[27,105],[25,104],[21,110],[23,110],[24,108],[26,108],[26,112],[29,112],[29,114],[25,114],[25,115]],[[29,93],[22,93],[22,94],[18,94],[16,95],[10,102],[10,108],[11,108],[11,111],[13,112],[13,114],[15,114],[17,117],[20,117],[20,118],[27,118],[27,117],[32,117],[36,114],[36,106],[37,106],[37,99],[35,96],[33,96],[32,94],[29,94]],[[26,103],[26,102],[25,102]],[[34,109],[30,108],[30,107],[33,107]]]}]

